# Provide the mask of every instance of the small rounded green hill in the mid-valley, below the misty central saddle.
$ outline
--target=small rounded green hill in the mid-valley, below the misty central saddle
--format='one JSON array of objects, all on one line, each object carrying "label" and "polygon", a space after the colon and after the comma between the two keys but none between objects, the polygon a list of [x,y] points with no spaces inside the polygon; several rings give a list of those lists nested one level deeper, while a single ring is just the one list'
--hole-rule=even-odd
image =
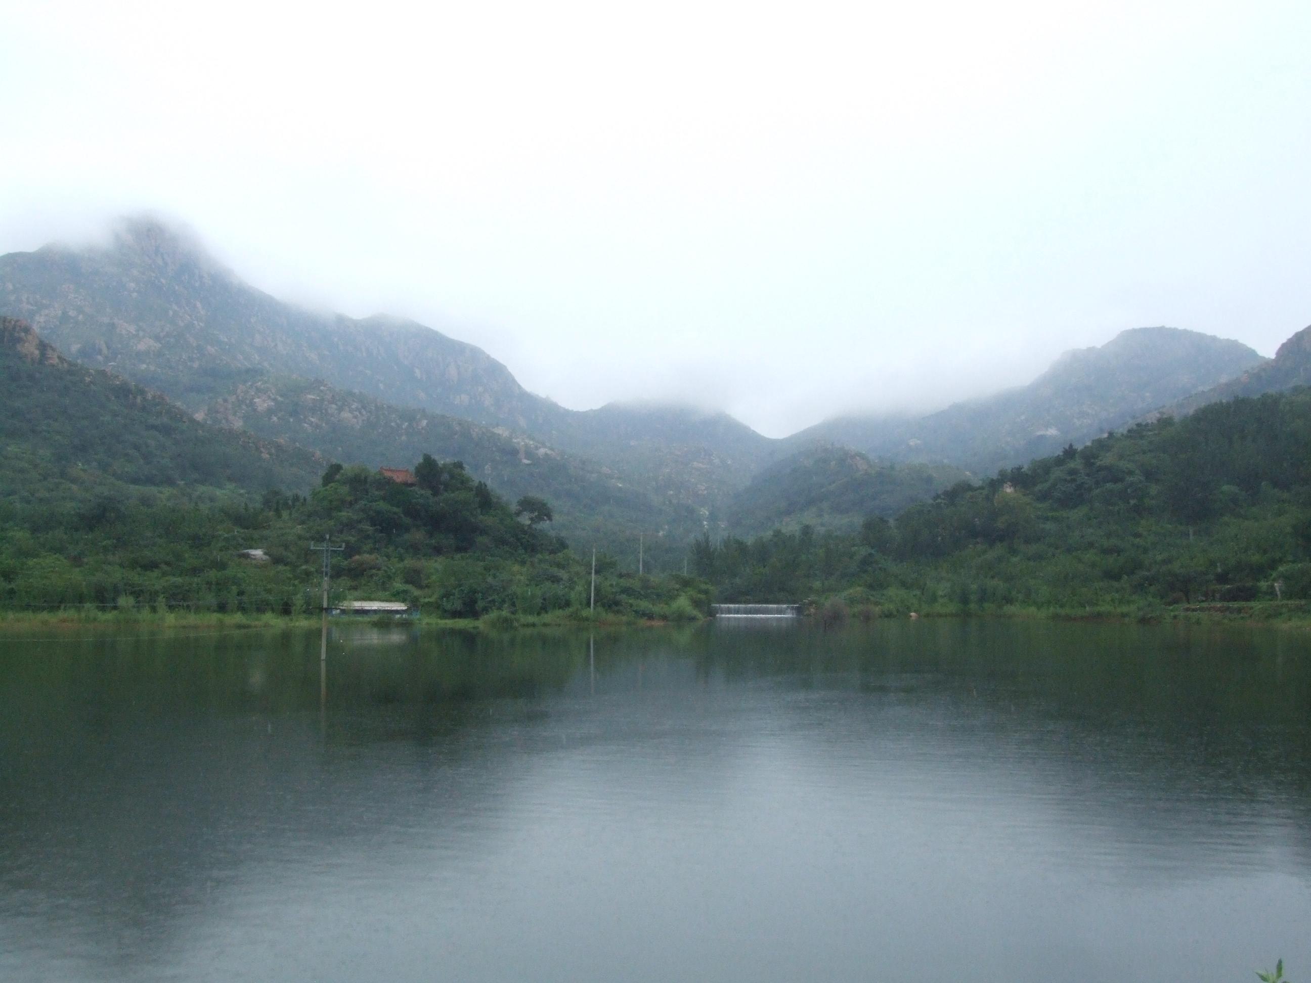
[{"label": "small rounded green hill in the mid-valley, below the misty central saddle", "polygon": [[739,536],[802,523],[852,528],[868,515],[894,518],[968,477],[949,464],[886,464],[815,444],[756,474],[733,497],[724,524]]}]

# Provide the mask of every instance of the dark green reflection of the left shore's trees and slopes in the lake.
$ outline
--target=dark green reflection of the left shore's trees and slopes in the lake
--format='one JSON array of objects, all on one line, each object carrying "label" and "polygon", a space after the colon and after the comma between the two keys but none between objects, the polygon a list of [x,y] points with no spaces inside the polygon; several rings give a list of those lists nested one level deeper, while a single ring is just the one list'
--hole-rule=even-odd
[{"label": "dark green reflection of the left shore's trees and slopes in the lake", "polygon": [[0,662],[4,893],[60,920],[81,910],[97,958],[146,957],[296,843],[349,855],[416,817],[494,813],[509,761],[469,735],[505,725],[489,706],[557,691],[586,659],[577,644],[464,633],[336,641],[324,731],[316,633],[28,646]]}]

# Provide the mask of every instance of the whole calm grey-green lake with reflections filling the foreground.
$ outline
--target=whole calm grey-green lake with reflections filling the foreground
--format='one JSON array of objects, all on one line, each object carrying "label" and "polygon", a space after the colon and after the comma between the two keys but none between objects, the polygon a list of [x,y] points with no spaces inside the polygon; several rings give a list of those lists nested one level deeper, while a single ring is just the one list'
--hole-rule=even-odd
[{"label": "whole calm grey-green lake with reflections filling the foreground", "polygon": [[4,980],[1311,980],[1306,636],[88,632],[0,637]]}]

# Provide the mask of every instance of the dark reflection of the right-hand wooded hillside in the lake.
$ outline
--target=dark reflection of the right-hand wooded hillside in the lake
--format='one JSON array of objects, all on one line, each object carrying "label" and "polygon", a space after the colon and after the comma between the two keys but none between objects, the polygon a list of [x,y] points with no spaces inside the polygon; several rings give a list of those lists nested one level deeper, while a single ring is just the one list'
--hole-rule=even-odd
[{"label": "dark reflection of the right-hand wooded hillside in the lake", "polygon": [[1177,878],[1188,865],[1175,861],[1198,844],[1238,836],[1253,855],[1272,847],[1311,869],[1311,640],[939,620],[801,632],[754,654],[733,641],[721,659],[730,678],[846,685],[863,697],[850,720],[872,747],[931,723],[916,731],[932,748],[927,769],[950,760],[1028,790],[1070,828],[1133,843],[1145,864],[1126,872],[1134,879],[1156,876],[1152,865]]}]

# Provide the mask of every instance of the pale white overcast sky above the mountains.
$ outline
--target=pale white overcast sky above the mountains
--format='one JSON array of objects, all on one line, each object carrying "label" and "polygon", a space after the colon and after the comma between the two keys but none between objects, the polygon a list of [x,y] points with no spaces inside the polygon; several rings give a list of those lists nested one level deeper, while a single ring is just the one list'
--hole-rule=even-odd
[{"label": "pale white overcast sky above the mountains", "polygon": [[0,252],[177,216],[574,408],[772,435],[1311,322],[1311,3],[0,0]]}]

